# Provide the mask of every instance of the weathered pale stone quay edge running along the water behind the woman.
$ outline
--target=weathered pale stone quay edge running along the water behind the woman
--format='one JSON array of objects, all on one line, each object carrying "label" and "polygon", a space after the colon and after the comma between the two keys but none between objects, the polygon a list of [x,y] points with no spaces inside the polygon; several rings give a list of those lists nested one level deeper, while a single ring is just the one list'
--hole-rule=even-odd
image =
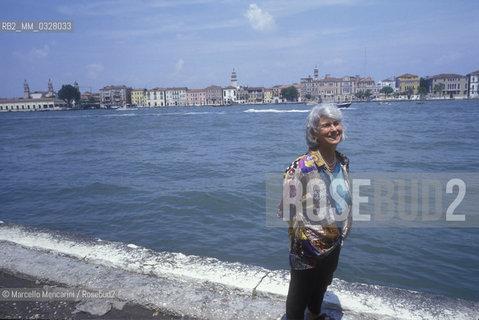
[{"label": "weathered pale stone quay edge running along the water behind the woman", "polygon": [[[278,319],[289,273],[0,223],[0,268],[199,319]],[[479,303],[335,279],[326,309],[347,319],[475,319]]]}]

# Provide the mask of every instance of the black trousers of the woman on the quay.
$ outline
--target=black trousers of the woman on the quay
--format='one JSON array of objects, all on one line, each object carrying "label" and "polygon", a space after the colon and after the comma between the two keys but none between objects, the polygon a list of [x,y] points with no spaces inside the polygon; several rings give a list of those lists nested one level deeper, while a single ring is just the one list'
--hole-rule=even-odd
[{"label": "black trousers of the woman on the quay", "polygon": [[333,281],[333,273],[338,266],[338,246],[327,257],[318,263],[316,268],[291,270],[288,298],[286,299],[286,318],[303,320],[306,307],[313,313],[321,312],[324,294]]}]

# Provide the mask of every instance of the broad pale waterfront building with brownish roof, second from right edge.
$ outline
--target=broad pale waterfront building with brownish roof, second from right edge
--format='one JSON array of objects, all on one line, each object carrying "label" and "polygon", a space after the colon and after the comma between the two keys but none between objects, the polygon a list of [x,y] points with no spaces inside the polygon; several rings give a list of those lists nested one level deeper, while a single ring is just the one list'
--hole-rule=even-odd
[{"label": "broad pale waterfront building with brownish roof, second from right edge", "polygon": [[[442,73],[432,77],[427,77],[429,93],[434,96],[463,99],[467,97],[467,78],[459,74]],[[437,91],[438,85],[442,86],[441,91]]]}]

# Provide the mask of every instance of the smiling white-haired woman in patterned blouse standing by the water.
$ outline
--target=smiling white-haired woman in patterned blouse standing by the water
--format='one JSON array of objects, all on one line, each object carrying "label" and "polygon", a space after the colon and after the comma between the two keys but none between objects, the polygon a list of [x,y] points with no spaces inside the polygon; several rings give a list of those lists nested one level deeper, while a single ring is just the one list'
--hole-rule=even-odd
[{"label": "smiling white-haired woman in patterned blouse standing by the water", "polygon": [[343,140],[341,111],[315,106],[308,115],[309,150],[286,170],[279,216],[288,221],[291,281],[286,318],[332,319],[321,313],[326,288],[351,228],[348,159],[336,147]]}]

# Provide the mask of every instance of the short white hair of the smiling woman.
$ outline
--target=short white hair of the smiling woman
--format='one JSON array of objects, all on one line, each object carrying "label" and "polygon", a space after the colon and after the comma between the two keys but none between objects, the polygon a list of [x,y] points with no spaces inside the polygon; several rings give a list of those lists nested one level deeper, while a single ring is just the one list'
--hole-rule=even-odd
[{"label": "short white hair of the smiling woman", "polygon": [[334,120],[343,120],[343,114],[341,113],[341,110],[339,110],[338,107],[333,103],[322,103],[314,106],[309,112],[308,118],[306,119],[306,143],[311,149],[319,147],[319,142],[316,139],[316,135],[318,133],[319,121],[323,116],[332,118]]}]

